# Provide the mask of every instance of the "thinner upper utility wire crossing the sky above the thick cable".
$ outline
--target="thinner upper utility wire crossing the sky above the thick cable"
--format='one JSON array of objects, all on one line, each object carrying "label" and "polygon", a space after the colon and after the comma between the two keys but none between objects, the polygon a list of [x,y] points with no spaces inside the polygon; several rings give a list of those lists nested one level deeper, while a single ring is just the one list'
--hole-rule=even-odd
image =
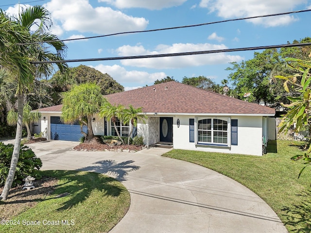
[{"label": "thinner upper utility wire crossing the sky above the thick cable", "polygon": [[131,31],[131,32],[122,32],[122,33],[112,33],[112,34],[107,34],[107,35],[97,35],[97,36],[89,36],[89,37],[83,37],[83,38],[82,37],[81,38],[72,38],[72,39],[64,39],[64,40],[51,40],[51,41],[44,41],[44,42],[21,43],[21,44],[17,44],[17,45],[30,45],[30,44],[38,44],[38,43],[50,43],[50,42],[54,42],[54,41],[85,40],[85,39],[93,39],[93,38],[106,37],[106,36],[112,36],[112,35],[129,34],[129,33],[149,33],[149,32],[156,32],[156,31],[180,29],[180,28],[198,27],[198,26],[204,26],[204,25],[210,25],[210,24],[216,24],[216,23],[225,23],[225,22],[245,20],[245,19],[252,19],[252,18],[283,16],[283,15],[289,15],[289,14],[295,14],[295,13],[303,13],[303,12],[309,12],[309,11],[311,11],[311,9],[299,10],[299,11],[291,11],[291,12],[284,12],[284,13],[277,13],[277,14],[271,14],[271,15],[263,15],[263,16],[253,16],[253,17],[245,17],[245,18],[227,19],[227,20],[222,20],[222,21],[200,23],[200,24],[178,26],[178,27],[170,27],[170,28],[151,29],[151,30],[144,30],[144,31]]}]

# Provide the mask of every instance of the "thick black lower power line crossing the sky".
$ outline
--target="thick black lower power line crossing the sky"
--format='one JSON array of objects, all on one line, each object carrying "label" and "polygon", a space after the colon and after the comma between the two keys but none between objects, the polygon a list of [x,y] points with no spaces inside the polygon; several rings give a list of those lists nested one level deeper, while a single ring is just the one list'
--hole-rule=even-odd
[{"label": "thick black lower power line crossing the sky", "polygon": [[73,60],[60,60],[60,61],[39,61],[39,62],[31,62],[31,64],[69,63],[69,62],[93,62],[93,61],[113,61],[113,60],[129,60],[129,59],[142,59],[142,58],[157,58],[157,57],[176,57],[176,56],[211,54],[211,53],[220,53],[220,52],[279,49],[279,48],[289,48],[289,47],[298,47],[298,46],[311,46],[311,43],[271,45],[271,46],[247,47],[247,48],[225,49],[225,50],[206,50],[206,51],[178,52],[178,53],[126,56],[126,57],[89,58],[89,59],[73,59]]}]

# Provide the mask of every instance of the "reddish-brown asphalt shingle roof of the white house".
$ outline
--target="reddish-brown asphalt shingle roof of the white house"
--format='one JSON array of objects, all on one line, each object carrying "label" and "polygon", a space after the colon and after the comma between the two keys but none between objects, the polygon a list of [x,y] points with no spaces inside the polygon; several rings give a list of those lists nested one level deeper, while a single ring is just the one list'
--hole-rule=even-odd
[{"label": "reddish-brown asphalt shingle roof of the white house", "polygon": [[[234,99],[187,84],[168,82],[104,96],[111,104],[132,104],[144,113],[275,115],[273,108]],[[61,112],[62,105],[39,109]]]}]

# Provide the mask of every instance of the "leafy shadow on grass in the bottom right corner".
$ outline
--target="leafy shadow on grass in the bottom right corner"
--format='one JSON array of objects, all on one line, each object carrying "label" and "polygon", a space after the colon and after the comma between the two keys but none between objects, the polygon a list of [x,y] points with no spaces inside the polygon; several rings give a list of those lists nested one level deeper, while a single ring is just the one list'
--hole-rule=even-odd
[{"label": "leafy shadow on grass in the bottom right corner", "polygon": [[291,207],[285,207],[282,211],[285,220],[284,224],[291,232],[310,233],[311,232],[311,189],[300,195],[301,203]]}]

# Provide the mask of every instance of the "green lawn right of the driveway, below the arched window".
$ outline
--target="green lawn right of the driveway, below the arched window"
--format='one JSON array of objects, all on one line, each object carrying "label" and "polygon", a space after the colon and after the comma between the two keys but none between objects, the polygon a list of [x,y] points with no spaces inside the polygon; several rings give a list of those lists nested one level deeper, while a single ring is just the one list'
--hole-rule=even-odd
[{"label": "green lawn right of the driveway, below the arched window", "polygon": [[269,141],[263,156],[190,150],[171,150],[163,156],[205,166],[242,183],[271,206],[290,233],[310,233],[311,166],[298,179],[302,162],[290,158],[304,152],[292,143]]}]

